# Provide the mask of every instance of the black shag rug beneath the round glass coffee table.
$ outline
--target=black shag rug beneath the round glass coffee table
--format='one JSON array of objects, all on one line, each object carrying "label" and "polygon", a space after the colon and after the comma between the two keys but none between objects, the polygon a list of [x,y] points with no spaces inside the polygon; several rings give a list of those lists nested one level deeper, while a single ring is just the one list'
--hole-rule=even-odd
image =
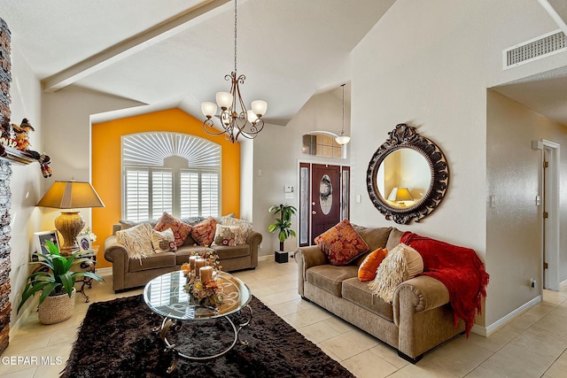
[{"label": "black shag rug beneath the round glass coffee table", "polygon": [[[167,374],[174,354],[166,351],[158,333],[162,318],[151,312],[142,296],[90,305],[66,363],[64,377],[352,377],[314,343],[279,318],[256,297],[249,327],[224,356],[208,361],[180,359]],[[244,316],[245,310],[238,316]],[[247,312],[246,312],[247,313]],[[234,318],[233,318],[234,319]],[[237,324],[238,319],[234,319]],[[172,327],[173,328],[173,327]],[[170,335],[171,334],[171,335]],[[183,353],[218,353],[234,340],[226,320],[183,322],[180,332],[167,334]],[[175,338],[175,336],[178,336]]]}]

